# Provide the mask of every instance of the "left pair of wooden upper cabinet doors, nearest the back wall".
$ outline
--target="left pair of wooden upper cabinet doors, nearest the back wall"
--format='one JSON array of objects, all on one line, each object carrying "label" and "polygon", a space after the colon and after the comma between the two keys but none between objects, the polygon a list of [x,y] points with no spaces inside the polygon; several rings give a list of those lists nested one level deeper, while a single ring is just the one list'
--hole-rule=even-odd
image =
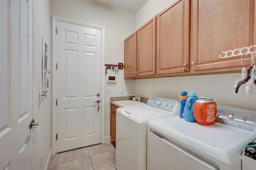
[{"label": "left pair of wooden upper cabinet doors, nearest the back wall", "polygon": [[124,40],[124,77],[156,75],[156,17]]}]

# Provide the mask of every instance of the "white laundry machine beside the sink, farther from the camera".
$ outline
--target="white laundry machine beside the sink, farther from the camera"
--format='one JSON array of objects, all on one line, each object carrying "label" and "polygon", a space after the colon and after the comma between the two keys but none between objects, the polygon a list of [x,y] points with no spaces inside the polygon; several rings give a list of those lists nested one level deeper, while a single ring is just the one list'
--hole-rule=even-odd
[{"label": "white laundry machine beside the sink, farther from the camera", "polygon": [[116,169],[146,170],[147,125],[153,119],[179,115],[180,103],[150,97],[143,106],[116,110]]}]

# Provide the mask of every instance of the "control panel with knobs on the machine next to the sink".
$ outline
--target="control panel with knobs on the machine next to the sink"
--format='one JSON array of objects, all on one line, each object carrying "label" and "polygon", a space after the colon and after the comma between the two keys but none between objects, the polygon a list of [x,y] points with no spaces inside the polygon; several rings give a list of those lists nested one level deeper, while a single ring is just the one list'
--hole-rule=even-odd
[{"label": "control panel with knobs on the machine next to the sink", "polygon": [[180,110],[180,103],[178,101],[162,97],[150,97],[145,105],[168,112]]}]

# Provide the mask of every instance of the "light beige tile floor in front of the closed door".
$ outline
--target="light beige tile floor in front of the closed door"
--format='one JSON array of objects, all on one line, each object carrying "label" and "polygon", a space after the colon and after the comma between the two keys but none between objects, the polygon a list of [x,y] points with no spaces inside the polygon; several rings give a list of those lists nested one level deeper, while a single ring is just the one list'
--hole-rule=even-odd
[{"label": "light beige tile floor in front of the closed door", "polygon": [[97,144],[52,156],[49,170],[116,170],[111,143]]}]

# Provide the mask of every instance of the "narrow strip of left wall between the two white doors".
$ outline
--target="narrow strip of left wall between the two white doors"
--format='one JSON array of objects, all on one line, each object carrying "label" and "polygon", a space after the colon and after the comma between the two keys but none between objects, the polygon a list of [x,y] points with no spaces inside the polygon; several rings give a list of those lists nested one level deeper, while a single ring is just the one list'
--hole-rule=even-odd
[{"label": "narrow strip of left wall between the two white doors", "polygon": [[[50,87],[48,98],[39,105],[38,95],[42,88],[42,38],[48,45],[48,68],[52,68],[52,20],[50,16],[50,0],[35,0],[36,3],[36,56],[34,58],[33,77],[33,113],[35,122],[39,125],[33,132],[34,152],[36,156],[35,169],[45,169],[52,148],[52,74],[48,76]],[[42,167],[40,156],[43,154]]]}]

